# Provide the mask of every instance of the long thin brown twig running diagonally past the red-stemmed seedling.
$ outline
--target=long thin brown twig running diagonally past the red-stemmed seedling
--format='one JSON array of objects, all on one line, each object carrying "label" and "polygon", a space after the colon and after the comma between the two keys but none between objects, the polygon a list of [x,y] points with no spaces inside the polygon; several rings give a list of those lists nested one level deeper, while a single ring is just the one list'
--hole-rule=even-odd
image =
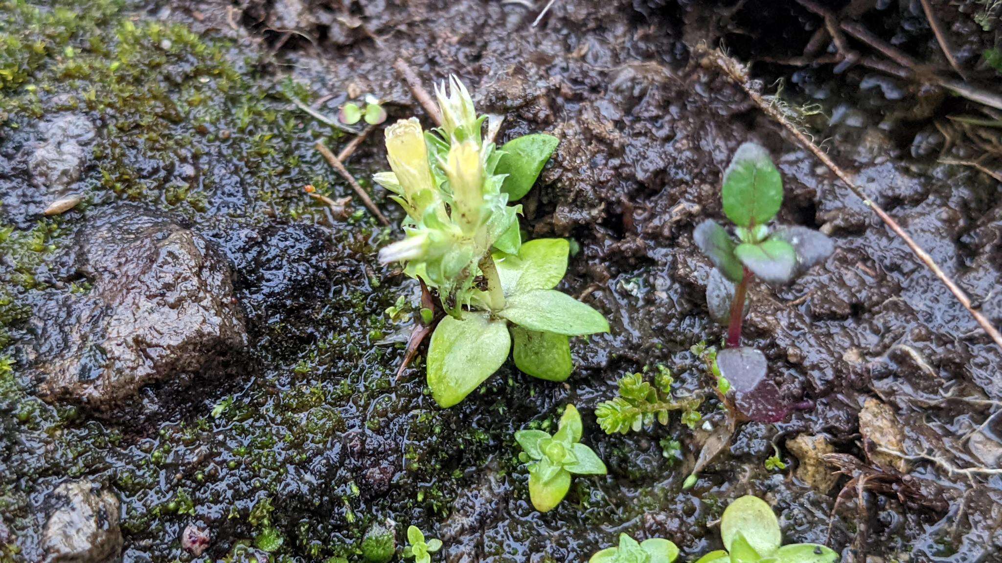
[{"label": "long thin brown twig running diagonally past the red-stemmed seedling", "polygon": [[924,263],[926,267],[928,267],[937,277],[939,277],[940,282],[942,282],[948,290],[950,290],[950,293],[952,293],[954,297],[957,298],[957,301],[964,306],[964,309],[966,309],[968,313],[974,317],[974,320],[977,321],[978,325],[980,325],[982,329],[984,329],[985,333],[988,334],[993,341],[995,341],[995,344],[999,347],[999,349],[1002,349],[1002,334],[1000,334],[998,330],[993,327],[991,323],[989,323],[988,319],[986,319],[981,312],[971,306],[971,299],[967,297],[967,294],[965,294],[964,291],[961,290],[960,287],[957,286],[957,284],[955,284],[942,268],[940,268],[928,252],[923,250],[922,247],[919,246],[907,232],[905,232],[905,229],[898,224],[898,221],[894,220],[891,215],[887,214],[887,211],[885,211],[875,201],[870,199],[863,189],[856,185],[845,170],[836,164],[835,161],[832,160],[832,158],[826,154],[824,150],[819,148],[818,145],[816,145],[810,138],[808,138],[803,131],[791,123],[775,104],[772,104],[763,98],[759,90],[749,84],[747,69],[743,65],[727,55],[724,55],[720,51],[709,50],[705,46],[700,46],[697,51],[702,51],[713,64],[715,64],[724,72],[724,74],[729,76],[731,80],[736,82],[745,91],[745,93],[747,93],[748,97],[752,98],[752,101],[754,101],[766,115],[772,117],[783,125],[788,131],[790,131],[790,133],[793,134],[805,148],[814,153],[814,155],[817,156],[818,159],[821,160],[826,166],[828,166],[829,169],[831,169],[835,175],[838,176],[839,179],[841,179],[843,183],[845,183],[849,189],[856,194],[857,197],[862,199],[864,204],[873,209],[874,212],[877,213],[877,216],[879,216],[888,226],[888,228],[900,236],[905,243],[908,244],[908,247],[911,248],[912,252],[915,253],[919,260],[922,261],[922,263]]}]

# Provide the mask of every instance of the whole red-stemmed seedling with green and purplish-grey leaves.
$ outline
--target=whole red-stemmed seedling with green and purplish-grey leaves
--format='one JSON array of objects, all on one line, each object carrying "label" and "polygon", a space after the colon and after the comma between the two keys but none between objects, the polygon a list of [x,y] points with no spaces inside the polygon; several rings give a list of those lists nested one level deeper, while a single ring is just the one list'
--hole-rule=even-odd
[{"label": "whole red-stemmed seedling with green and purplish-grey leaves", "polygon": [[733,234],[713,220],[695,227],[692,235],[716,269],[706,284],[710,316],[727,326],[726,348],[716,353],[714,375],[725,380],[725,402],[742,419],[778,422],[791,408],[770,380],[766,357],[741,347],[741,321],[748,286],[756,279],[788,284],[833,251],[832,240],[804,226],[771,227],[783,203],[783,179],[769,152],[746,142],[737,148],[723,173],[723,213],[734,224]]}]

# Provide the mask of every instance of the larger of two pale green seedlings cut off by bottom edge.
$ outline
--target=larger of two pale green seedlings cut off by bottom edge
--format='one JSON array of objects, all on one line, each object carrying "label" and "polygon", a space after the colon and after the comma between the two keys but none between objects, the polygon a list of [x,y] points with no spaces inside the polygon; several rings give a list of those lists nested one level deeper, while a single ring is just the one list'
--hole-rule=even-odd
[{"label": "larger of two pale green seedlings cut off by bottom edge", "polygon": [[813,543],[783,545],[780,521],[766,501],[741,497],[723,511],[720,539],[726,549],[711,551],[696,563],[835,563],[839,554]]}]

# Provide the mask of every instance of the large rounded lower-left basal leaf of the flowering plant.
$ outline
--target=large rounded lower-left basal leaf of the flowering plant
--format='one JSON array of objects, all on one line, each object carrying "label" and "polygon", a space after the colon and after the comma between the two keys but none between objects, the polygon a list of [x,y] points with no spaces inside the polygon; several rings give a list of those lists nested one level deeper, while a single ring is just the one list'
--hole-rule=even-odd
[{"label": "large rounded lower-left basal leaf of the flowering plant", "polygon": [[479,313],[443,319],[428,346],[428,387],[435,401],[441,407],[462,401],[504,364],[510,349],[504,322]]}]

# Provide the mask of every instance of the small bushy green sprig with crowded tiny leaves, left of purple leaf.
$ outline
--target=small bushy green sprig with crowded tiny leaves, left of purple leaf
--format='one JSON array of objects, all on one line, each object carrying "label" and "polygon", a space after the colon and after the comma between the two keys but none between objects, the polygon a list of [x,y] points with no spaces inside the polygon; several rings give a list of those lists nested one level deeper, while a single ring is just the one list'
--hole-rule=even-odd
[{"label": "small bushy green sprig with crowded tiny leaves, left of purple leaf", "polygon": [[[659,370],[654,375],[654,385],[643,380],[642,374],[628,374],[619,378],[619,396],[605,401],[595,409],[598,426],[606,434],[626,434],[638,432],[653,425],[656,420],[661,425],[668,424],[671,411],[684,411],[685,415],[699,414],[695,409],[702,402],[699,397],[675,400],[671,396],[671,372]],[[684,416],[684,415],[683,415]]]}]

